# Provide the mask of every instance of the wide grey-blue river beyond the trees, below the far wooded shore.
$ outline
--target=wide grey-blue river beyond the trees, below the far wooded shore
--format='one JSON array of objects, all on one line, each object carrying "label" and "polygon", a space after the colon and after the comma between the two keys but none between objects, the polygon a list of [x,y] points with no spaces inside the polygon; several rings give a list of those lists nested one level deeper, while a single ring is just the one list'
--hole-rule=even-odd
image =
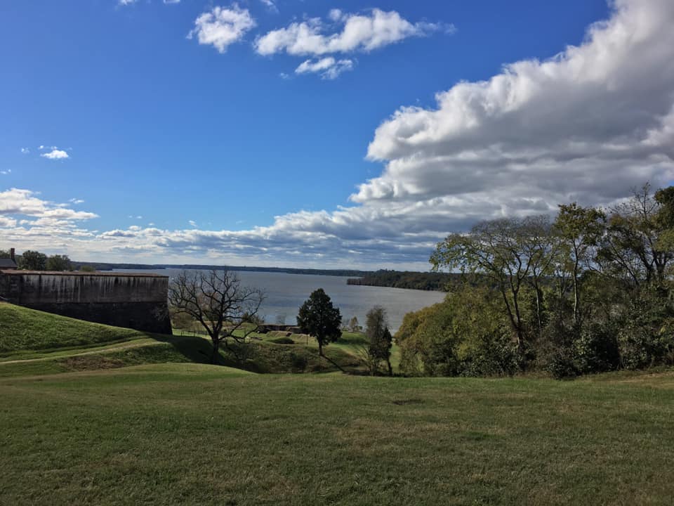
[{"label": "wide grey-blue river beyond the trees, below the far wooded shore", "polygon": [[[158,269],[133,272],[157,273],[173,277],[180,271]],[[444,299],[442,292],[347,285],[347,278],[343,276],[251,271],[238,271],[236,274],[241,279],[242,285],[264,290],[266,299],[260,314],[266,323],[283,321],[286,325],[295,325],[298,309],[317,288],[325,290],[332,303],[338,306],[344,320],[350,320],[355,316],[360,325],[365,325],[365,315],[372,306],[382,306],[388,314],[392,332],[398,330],[405,314]]]}]

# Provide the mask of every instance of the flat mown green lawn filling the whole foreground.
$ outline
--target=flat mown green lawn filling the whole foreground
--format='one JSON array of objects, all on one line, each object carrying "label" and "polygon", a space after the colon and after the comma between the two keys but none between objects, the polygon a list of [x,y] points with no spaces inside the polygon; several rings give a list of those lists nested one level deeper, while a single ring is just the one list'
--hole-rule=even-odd
[{"label": "flat mown green lawn filling the whole foreground", "polygon": [[0,504],[668,505],[674,372],[0,380]]}]

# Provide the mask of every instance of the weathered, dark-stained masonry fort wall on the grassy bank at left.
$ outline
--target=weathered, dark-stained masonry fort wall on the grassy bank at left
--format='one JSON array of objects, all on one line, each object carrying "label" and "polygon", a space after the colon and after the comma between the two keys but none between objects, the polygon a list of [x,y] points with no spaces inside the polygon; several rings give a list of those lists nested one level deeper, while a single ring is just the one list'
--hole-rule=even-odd
[{"label": "weathered, dark-stained masonry fort wall on the grassy bank at left", "polygon": [[117,327],[171,333],[169,278],[153,274],[0,271],[13,304]]}]

